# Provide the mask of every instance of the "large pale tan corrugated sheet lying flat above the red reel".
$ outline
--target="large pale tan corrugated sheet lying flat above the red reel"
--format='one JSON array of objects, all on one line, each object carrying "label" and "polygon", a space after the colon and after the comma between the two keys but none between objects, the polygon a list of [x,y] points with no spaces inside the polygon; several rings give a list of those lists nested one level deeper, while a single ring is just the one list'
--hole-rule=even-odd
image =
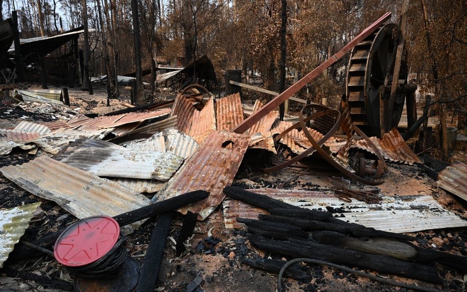
[{"label": "large pale tan corrugated sheet lying flat above the red reel", "polygon": [[[149,204],[144,195],[46,156],[1,167],[0,172],[33,195],[55,201],[78,219],[116,216]],[[140,225],[138,222],[123,229],[130,232]]]}]

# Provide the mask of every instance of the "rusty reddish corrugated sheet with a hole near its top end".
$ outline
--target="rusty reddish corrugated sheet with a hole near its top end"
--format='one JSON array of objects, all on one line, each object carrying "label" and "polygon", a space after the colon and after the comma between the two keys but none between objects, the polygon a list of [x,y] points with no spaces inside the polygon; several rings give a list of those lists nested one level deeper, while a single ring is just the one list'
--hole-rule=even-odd
[{"label": "rusty reddish corrugated sheet with a hole near its top end", "polygon": [[249,140],[248,135],[213,132],[152,200],[196,190],[207,191],[210,193],[207,199],[180,210],[182,213],[188,210],[198,213],[198,218],[204,220],[224,199],[222,190],[234,180]]}]

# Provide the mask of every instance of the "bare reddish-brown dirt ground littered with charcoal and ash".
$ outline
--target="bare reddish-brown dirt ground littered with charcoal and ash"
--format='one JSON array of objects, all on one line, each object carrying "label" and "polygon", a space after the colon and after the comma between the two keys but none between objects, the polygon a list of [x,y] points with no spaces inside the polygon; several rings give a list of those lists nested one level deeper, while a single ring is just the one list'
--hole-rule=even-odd
[{"label": "bare reddish-brown dirt ground littered with charcoal and ash", "polygon": [[[106,106],[106,92],[103,87],[95,88],[95,95],[89,96],[87,93],[78,90],[70,90],[70,101],[72,108],[80,108],[82,113],[98,113],[123,109],[129,103],[129,99],[111,99],[110,106]],[[123,96],[129,96],[129,92],[123,90]],[[0,128],[14,127],[21,120],[21,116],[29,117],[26,120],[36,121],[41,117],[17,109],[9,114],[0,114]],[[424,153],[437,157],[436,152]],[[33,156],[23,151],[13,151],[8,156],[0,157],[0,166],[18,164],[33,159]],[[451,160],[467,162],[465,153],[451,153]],[[389,172],[384,175],[385,183],[380,185],[381,193],[384,195],[432,195],[438,202],[449,210],[464,219],[467,219],[467,204],[460,199],[447,194],[437,188],[434,180],[421,172],[416,166],[389,162]],[[437,171],[444,168],[447,163],[431,160],[431,165]],[[253,173],[251,173],[253,171]],[[234,185],[244,187],[245,184],[252,188],[280,186],[284,189],[303,190],[325,190],[329,189],[330,179],[325,176],[306,175],[294,178],[297,173],[290,169],[283,169],[277,173],[264,174],[255,170],[246,159],[242,163],[240,170],[234,181]],[[148,194],[152,197],[152,194]],[[26,230],[23,239],[34,241],[51,232],[67,227],[76,219],[60,208],[56,203],[40,199],[19,188],[9,180],[0,177],[0,207],[9,208],[21,204],[41,201],[41,211],[36,212],[30,227]],[[264,271],[249,268],[241,263],[245,257],[257,258],[268,257],[278,258],[276,255],[264,254],[254,249],[246,239],[246,231],[242,229],[226,229],[222,207],[218,208],[203,222],[198,222],[193,237],[187,243],[187,252],[181,257],[175,257],[175,244],[172,239],[176,239],[181,227],[180,215],[174,218],[172,229],[169,232],[169,239],[166,243],[166,250],[159,274],[159,281],[154,291],[182,292],[197,275],[205,280],[202,289],[206,292],[263,292],[276,291],[277,276]],[[130,234],[127,240],[129,255],[139,264],[144,261],[145,251],[151,236],[156,218],[148,220],[137,231]],[[207,247],[203,245],[204,239],[209,235],[218,238],[220,242],[214,246],[214,253],[207,252]],[[461,228],[450,228],[441,230],[429,230],[411,234],[416,237],[415,244],[440,251],[449,251],[454,254],[467,256],[467,232]],[[280,259],[280,257],[279,257]],[[437,265],[437,264],[436,264]],[[24,280],[13,274],[2,272],[0,275],[0,291],[25,291],[38,292],[50,291],[59,292],[63,290],[60,286],[63,281],[72,283],[72,275],[62,265],[58,264],[49,256],[38,256],[25,260],[7,261],[4,266],[16,271],[27,271],[37,276],[44,276],[51,280],[47,285],[38,284],[32,280]],[[441,277],[445,280],[444,285],[434,286],[416,280],[404,279],[396,276],[380,275],[385,278],[401,281],[404,283],[416,284],[423,287],[441,289],[444,291],[465,291],[465,281],[467,277],[456,271],[448,270],[437,265]],[[405,288],[383,285],[354,274],[348,274],[339,270],[317,266],[300,265],[300,269],[306,271],[308,275],[304,280],[284,279],[287,291],[290,292],[386,292],[386,291],[407,291]],[[371,271],[369,273],[375,274]],[[59,284],[57,284],[59,283]],[[71,284],[69,287],[71,288]]]}]

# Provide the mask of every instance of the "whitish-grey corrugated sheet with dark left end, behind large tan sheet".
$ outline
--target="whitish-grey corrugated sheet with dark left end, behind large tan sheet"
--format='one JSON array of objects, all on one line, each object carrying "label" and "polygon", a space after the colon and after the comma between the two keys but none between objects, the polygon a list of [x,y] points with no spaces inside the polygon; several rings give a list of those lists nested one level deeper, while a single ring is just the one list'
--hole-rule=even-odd
[{"label": "whitish-grey corrugated sheet with dark left end, behind large tan sheet", "polygon": [[99,176],[168,181],[183,162],[171,153],[111,148],[81,148],[55,157]]}]

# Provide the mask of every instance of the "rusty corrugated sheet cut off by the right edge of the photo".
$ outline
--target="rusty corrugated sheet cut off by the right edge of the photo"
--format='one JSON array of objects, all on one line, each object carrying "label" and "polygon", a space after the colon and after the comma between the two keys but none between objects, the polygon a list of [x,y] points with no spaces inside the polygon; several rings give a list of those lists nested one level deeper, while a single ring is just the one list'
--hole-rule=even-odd
[{"label": "rusty corrugated sheet cut off by the right edge of the photo", "polygon": [[438,174],[438,187],[467,201],[467,165],[458,161]]}]

